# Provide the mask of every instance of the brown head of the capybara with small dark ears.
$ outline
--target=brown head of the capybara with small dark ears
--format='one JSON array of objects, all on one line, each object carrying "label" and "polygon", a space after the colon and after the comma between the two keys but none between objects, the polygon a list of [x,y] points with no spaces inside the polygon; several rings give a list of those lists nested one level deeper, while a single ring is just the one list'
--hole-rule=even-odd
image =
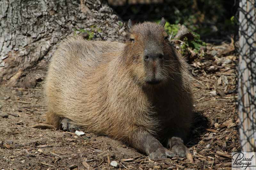
[{"label": "brown head of the capybara with small dark ears", "polygon": [[129,20],[130,41],[126,42],[123,56],[129,73],[140,85],[164,85],[172,73],[178,72],[177,55],[164,25],[164,18],[160,24],[144,22],[134,26]]}]

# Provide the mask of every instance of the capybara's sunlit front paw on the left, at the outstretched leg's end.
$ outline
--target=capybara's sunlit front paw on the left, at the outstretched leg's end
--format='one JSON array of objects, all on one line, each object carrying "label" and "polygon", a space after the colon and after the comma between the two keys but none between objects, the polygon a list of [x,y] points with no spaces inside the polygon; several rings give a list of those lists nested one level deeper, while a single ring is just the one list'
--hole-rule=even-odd
[{"label": "capybara's sunlit front paw on the left, at the outstretched leg's end", "polygon": [[168,149],[162,147],[162,148],[158,148],[156,149],[154,152],[151,152],[148,155],[149,159],[163,159],[163,158],[172,158],[175,157],[176,154],[173,153],[172,151],[169,151]]}]

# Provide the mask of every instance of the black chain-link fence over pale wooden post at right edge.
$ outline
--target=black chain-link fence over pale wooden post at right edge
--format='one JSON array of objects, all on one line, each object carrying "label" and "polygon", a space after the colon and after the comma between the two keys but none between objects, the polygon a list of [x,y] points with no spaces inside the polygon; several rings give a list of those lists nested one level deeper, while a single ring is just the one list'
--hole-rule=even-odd
[{"label": "black chain-link fence over pale wooden post at right edge", "polygon": [[239,4],[239,117],[243,152],[256,152],[256,1]]}]

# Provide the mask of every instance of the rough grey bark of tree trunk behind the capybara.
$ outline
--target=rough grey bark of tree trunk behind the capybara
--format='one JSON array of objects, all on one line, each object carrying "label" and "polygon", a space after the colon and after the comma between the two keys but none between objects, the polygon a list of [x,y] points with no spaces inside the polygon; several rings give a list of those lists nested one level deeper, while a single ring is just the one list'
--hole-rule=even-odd
[{"label": "rough grey bark of tree trunk behind the capybara", "polygon": [[0,85],[35,86],[57,42],[81,29],[95,40],[123,41],[125,35],[104,0],[1,0]]}]

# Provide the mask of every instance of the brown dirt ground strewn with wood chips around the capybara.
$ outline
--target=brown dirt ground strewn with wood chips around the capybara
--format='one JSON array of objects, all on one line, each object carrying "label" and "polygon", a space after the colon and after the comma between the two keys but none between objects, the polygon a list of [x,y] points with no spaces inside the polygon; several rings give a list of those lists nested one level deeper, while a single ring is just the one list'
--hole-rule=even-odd
[{"label": "brown dirt ground strewn with wood chips around the capybara", "polygon": [[191,64],[196,119],[186,145],[192,158],[149,160],[109,137],[39,126],[46,113],[42,88],[1,86],[0,169],[231,169],[231,152],[240,150],[237,56],[207,48],[209,55]]}]

